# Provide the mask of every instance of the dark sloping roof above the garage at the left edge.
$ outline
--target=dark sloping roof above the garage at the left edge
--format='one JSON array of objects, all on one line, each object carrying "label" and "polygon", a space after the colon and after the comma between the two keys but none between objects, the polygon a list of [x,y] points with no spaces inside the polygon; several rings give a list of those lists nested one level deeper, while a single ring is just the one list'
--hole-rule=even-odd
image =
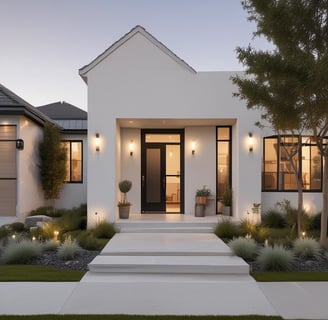
[{"label": "dark sloping roof above the garage at the left edge", "polygon": [[45,114],[17,96],[2,84],[0,84],[0,114],[24,115],[41,125],[45,122],[53,123],[53,121]]}]

